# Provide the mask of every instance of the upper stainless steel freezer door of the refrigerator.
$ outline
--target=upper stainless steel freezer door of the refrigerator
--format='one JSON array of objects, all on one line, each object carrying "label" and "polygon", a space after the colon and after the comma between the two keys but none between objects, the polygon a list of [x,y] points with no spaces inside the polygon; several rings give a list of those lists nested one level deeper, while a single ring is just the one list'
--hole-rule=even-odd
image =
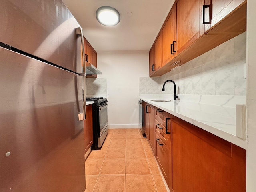
[{"label": "upper stainless steel freezer door of the refrigerator", "polygon": [[1,0],[0,42],[81,73],[80,25],[61,0]]}]

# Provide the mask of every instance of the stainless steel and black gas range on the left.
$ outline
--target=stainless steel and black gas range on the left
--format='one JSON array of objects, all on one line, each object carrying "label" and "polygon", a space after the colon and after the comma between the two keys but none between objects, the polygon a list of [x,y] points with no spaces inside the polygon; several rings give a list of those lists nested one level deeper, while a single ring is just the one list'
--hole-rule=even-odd
[{"label": "stainless steel and black gas range on the left", "polygon": [[103,97],[87,97],[92,104],[93,144],[91,150],[100,150],[108,134],[108,100]]}]

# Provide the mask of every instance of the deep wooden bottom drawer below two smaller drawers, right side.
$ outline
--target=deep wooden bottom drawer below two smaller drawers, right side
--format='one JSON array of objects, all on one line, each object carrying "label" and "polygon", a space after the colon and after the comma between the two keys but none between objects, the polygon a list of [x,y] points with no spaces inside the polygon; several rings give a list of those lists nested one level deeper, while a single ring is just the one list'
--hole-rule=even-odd
[{"label": "deep wooden bottom drawer below two smaller drawers, right side", "polygon": [[168,182],[169,178],[169,150],[159,137],[159,134],[156,132],[156,160],[160,166],[162,174]]}]

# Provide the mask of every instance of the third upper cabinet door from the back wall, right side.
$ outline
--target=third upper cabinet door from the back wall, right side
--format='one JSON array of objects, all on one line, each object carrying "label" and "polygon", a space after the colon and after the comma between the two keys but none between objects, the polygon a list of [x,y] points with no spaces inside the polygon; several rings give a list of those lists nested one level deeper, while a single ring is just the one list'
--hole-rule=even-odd
[{"label": "third upper cabinet door from the back wall, right side", "polygon": [[173,6],[162,28],[163,65],[168,63],[170,60],[174,58],[175,50],[173,50],[173,48],[176,45],[174,34],[175,33],[174,33],[174,6]]}]

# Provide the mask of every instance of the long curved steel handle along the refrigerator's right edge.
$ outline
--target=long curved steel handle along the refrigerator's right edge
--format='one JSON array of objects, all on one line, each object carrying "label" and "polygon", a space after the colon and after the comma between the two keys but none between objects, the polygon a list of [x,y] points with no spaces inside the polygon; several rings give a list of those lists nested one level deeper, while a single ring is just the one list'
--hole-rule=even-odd
[{"label": "long curved steel handle along the refrigerator's right edge", "polygon": [[[86,74],[85,74],[85,71],[86,71],[86,68],[85,68],[85,51],[84,51],[84,35],[83,35],[83,31],[82,31],[82,28],[81,27],[78,27],[76,28],[76,35],[77,36],[80,36],[81,38],[81,45],[82,45],[82,61],[83,61],[83,69],[82,69],[82,74],[80,74],[81,76],[84,77],[84,97],[83,97],[83,113],[81,114],[82,115],[82,120],[85,120],[86,118]],[[79,116],[79,115],[78,115]],[[80,117],[81,118],[81,117]],[[80,120],[79,118],[79,120]]]}]

